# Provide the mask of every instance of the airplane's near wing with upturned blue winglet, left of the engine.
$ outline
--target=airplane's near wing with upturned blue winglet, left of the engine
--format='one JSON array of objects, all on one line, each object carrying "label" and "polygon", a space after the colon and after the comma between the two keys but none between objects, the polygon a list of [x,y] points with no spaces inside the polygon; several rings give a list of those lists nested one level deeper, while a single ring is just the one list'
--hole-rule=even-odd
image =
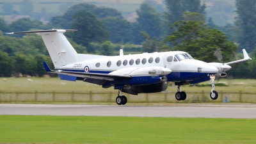
[{"label": "airplane's near wing with upturned blue winglet, left of the engine", "polygon": [[125,80],[125,79],[132,79],[131,76],[125,75],[111,75],[111,74],[95,74],[95,73],[84,73],[84,72],[68,72],[64,70],[51,70],[47,63],[44,61],[44,67],[47,72],[51,72],[53,74],[63,74],[66,76],[74,76],[74,77],[82,77],[84,79],[99,79],[99,80],[106,80],[106,81],[115,81],[115,80]]}]

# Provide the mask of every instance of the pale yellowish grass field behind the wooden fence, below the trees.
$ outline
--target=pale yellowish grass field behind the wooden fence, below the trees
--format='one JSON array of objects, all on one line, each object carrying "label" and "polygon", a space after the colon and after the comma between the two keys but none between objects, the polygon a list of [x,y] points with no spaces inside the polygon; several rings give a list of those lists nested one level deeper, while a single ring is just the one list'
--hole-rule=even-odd
[{"label": "pale yellowish grass field behind the wooden fence, below the trees", "polygon": [[[6,81],[3,81],[4,78],[0,79],[0,91],[26,91],[31,92],[37,90],[38,92],[45,92],[45,91],[111,91],[116,92],[113,87],[105,89],[102,86],[97,84],[90,84],[84,83],[83,81],[61,81],[60,78],[44,78],[44,77],[7,77]],[[28,79],[32,79],[33,82],[28,81]],[[225,82],[227,80],[221,79],[221,82]],[[243,91],[243,92],[251,92],[256,88],[256,81],[255,79],[234,79],[233,82],[238,84],[234,84],[233,86],[218,86],[216,84],[217,91]],[[217,81],[216,81],[217,83]],[[200,83],[201,86],[189,86],[184,85],[181,86],[182,91],[186,92],[195,92],[195,91],[210,91],[211,84],[209,82]],[[221,84],[220,84],[221,85]],[[222,84],[223,85],[223,84]],[[177,86],[172,88],[169,86],[166,91],[169,92],[176,92]]]}]

